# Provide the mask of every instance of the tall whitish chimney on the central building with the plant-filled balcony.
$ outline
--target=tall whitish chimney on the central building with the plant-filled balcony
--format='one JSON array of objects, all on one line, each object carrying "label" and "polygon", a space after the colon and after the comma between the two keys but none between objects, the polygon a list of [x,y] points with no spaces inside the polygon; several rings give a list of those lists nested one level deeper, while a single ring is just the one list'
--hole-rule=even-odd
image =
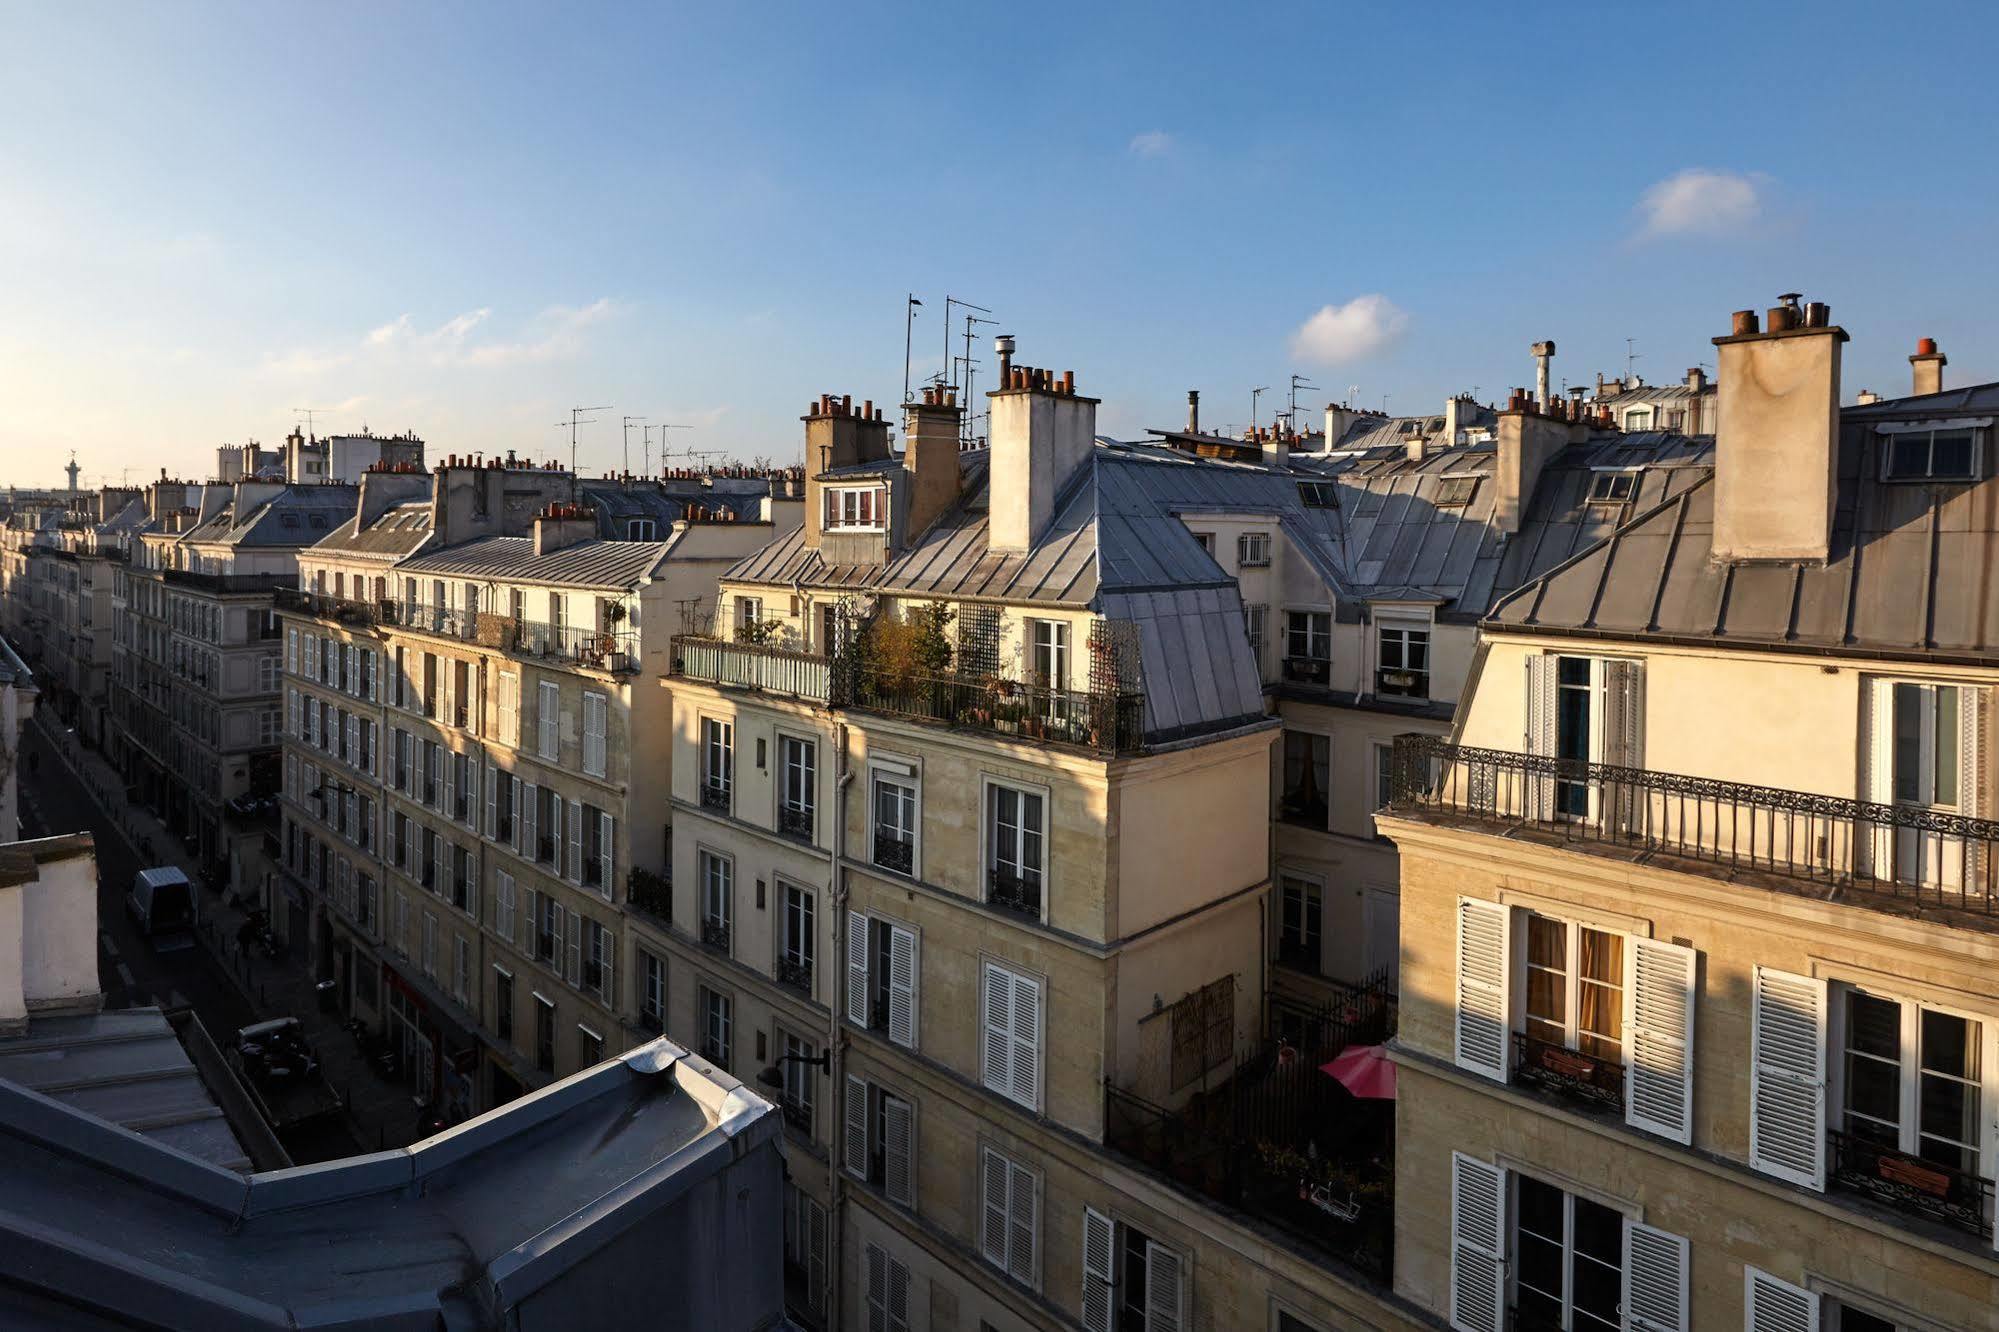
[{"label": "tall whitish chimney on the central building with the plant-filled balcony", "polygon": [[1047,530],[1055,496],[1089,462],[1097,400],[1079,396],[1069,374],[1055,378],[1049,370],[1013,364],[986,398],[992,410],[988,546],[1017,554]]}]

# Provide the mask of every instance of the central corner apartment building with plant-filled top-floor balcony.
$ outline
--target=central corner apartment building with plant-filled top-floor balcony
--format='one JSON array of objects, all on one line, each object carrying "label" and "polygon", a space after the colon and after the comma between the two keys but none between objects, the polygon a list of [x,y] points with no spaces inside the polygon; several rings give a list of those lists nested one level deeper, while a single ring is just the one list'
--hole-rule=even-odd
[{"label": "central corner apartment building with plant-filled top-floor balcony", "polygon": [[1093,444],[1067,374],[1001,382],[990,450],[948,390],[900,456],[872,404],[808,412],[804,528],[676,640],[642,1002],[780,1092],[800,1320],[1423,1326],[1111,1142],[1263,1040],[1279,730],[1209,552],[1323,580],[1323,528],[1261,464]]}]

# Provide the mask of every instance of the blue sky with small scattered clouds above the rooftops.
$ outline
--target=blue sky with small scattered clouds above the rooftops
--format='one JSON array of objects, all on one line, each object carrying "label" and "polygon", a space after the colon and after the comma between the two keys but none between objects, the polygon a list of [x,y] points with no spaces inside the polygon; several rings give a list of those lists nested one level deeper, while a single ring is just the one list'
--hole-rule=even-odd
[{"label": "blue sky with small scattered clouds above the rooftops", "polygon": [[[796,462],[946,296],[1099,432],[1647,380],[1825,300],[1999,378],[1999,10],[0,0],[0,482],[218,444]],[[964,350],[964,314],[950,332]],[[1631,342],[1627,342],[1627,338]],[[660,434],[652,436],[658,462]],[[680,460],[684,462],[684,460]]]}]

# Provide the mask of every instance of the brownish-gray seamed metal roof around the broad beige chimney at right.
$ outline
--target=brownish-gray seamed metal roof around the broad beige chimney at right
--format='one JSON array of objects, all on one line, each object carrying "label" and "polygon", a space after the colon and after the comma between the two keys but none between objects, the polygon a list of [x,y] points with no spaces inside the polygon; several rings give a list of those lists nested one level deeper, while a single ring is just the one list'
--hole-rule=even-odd
[{"label": "brownish-gray seamed metal roof around the broad beige chimney at right", "polygon": [[1999,386],[1987,384],[1849,408],[1823,566],[1717,564],[1703,478],[1501,600],[1491,626],[1989,660],[1999,654],[1999,478],[1885,482],[1873,424],[1993,404]]}]

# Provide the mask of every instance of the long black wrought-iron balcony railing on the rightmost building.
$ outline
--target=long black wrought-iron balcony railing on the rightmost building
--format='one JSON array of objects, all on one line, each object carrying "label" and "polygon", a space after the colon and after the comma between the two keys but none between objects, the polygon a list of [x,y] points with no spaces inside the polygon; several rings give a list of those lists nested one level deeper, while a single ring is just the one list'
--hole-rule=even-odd
[{"label": "long black wrought-iron balcony railing on the rightmost building", "polygon": [[1999,822],[1951,810],[1397,736],[1395,812],[1995,912]]}]

